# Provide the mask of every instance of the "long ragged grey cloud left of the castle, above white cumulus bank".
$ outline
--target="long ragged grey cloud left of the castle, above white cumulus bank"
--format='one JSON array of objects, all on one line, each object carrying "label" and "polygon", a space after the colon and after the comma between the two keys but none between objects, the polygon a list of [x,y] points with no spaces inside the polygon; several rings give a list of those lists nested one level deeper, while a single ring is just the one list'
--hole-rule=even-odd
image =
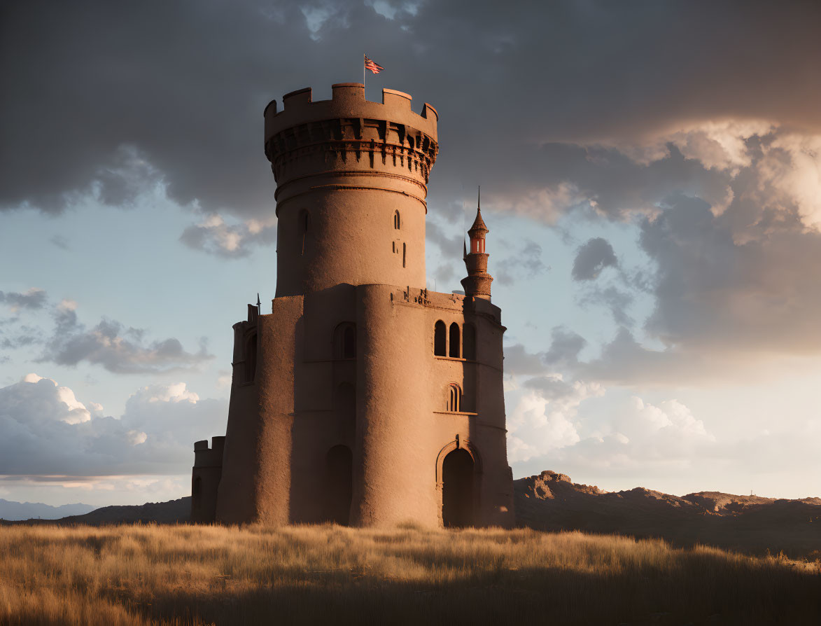
[{"label": "long ragged grey cloud left of the castle, above white cumulus bank", "polygon": [[116,320],[100,320],[87,329],[73,308],[57,308],[56,328],[39,362],[76,366],[82,361],[114,374],[145,374],[192,367],[213,358],[204,344],[187,352],[177,338],[145,342],[144,329],[126,328]]}]

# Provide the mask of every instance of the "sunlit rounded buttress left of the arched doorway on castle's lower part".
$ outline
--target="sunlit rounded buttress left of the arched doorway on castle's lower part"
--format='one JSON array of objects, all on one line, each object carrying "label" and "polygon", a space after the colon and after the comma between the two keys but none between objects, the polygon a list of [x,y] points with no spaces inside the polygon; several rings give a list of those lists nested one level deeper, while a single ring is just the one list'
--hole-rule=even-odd
[{"label": "sunlit rounded buttress left of the arched doorway on castle's lower part", "polygon": [[430,333],[388,285],[357,288],[357,446],[354,523],[437,523],[431,447]]}]

